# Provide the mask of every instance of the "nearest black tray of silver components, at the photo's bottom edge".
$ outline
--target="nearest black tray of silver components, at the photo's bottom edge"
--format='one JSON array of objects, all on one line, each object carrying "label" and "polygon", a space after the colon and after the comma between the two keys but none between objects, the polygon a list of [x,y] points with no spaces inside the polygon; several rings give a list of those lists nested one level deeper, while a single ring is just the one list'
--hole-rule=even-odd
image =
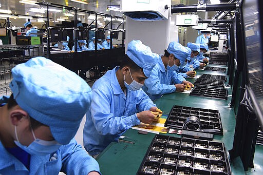
[{"label": "nearest black tray of silver components, at the photo's bottom edge", "polygon": [[[174,140],[179,144],[169,144]],[[159,148],[155,150],[157,146],[161,151]],[[137,174],[224,175],[231,174],[231,169],[223,143],[157,134]]]}]

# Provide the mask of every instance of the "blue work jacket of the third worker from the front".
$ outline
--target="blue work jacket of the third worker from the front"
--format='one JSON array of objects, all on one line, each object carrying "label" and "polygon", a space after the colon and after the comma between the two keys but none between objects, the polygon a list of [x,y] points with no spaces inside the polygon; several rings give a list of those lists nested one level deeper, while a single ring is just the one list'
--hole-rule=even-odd
[{"label": "blue work jacket of the third worker from the front", "polygon": [[184,77],[164,67],[160,56],[151,75],[145,80],[142,89],[151,100],[155,100],[160,98],[163,94],[175,92],[175,84],[180,84],[182,81],[185,81]]}]

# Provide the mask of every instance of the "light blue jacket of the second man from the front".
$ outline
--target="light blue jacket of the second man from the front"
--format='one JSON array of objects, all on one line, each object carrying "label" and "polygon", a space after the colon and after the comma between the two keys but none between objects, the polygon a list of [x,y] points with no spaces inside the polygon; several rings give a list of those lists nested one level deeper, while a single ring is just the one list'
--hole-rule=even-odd
[{"label": "light blue jacket of the second man from the front", "polygon": [[129,128],[140,124],[136,113],[156,106],[142,90],[127,88],[126,95],[117,80],[119,67],[108,70],[92,86],[92,102],[86,113],[84,147],[90,155],[103,151]]}]

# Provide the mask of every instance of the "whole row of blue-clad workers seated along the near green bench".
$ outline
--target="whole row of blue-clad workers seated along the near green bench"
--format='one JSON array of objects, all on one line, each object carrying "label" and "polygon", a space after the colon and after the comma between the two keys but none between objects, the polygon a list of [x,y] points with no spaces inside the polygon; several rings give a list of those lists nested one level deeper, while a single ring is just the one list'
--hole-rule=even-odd
[{"label": "whole row of blue-clad workers seated along the near green bench", "polygon": [[[101,174],[95,158],[127,129],[156,121],[162,111],[153,101],[193,86],[185,77],[209,60],[206,43],[164,49],[160,55],[131,41],[120,66],[92,88],[45,57],[16,65],[12,93],[0,101],[0,174]],[[74,140],[85,114],[88,153]]]}]

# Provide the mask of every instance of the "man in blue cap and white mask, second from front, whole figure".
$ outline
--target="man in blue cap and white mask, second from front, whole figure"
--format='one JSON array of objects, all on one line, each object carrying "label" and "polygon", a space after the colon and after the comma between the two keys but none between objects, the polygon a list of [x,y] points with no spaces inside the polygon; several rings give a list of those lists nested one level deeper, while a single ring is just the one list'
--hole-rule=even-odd
[{"label": "man in blue cap and white mask, second from front, whole figure", "polygon": [[141,41],[128,44],[120,66],[108,70],[92,86],[92,102],[86,113],[84,147],[97,155],[129,128],[156,121],[156,105],[141,89],[159,55]]}]

